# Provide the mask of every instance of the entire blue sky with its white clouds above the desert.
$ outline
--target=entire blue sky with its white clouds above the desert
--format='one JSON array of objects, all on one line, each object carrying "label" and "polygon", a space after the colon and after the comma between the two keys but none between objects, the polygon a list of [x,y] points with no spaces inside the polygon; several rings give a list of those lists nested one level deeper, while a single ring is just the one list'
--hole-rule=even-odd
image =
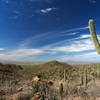
[{"label": "entire blue sky with its white clouds above the desert", "polygon": [[0,61],[99,62],[99,0],[0,0]]}]

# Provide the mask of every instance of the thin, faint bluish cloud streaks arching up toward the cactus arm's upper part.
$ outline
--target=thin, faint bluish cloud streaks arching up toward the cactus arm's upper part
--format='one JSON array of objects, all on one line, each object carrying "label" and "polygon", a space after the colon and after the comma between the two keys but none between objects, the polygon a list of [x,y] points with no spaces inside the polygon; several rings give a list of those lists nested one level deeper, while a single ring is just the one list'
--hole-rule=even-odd
[{"label": "thin, faint bluish cloud streaks arching up toward the cactus arm's upper part", "polygon": [[[59,37],[62,37],[62,36],[68,36],[68,35],[76,35],[76,34],[79,34],[80,32],[78,31],[82,31],[82,30],[86,30],[88,29],[88,27],[81,27],[81,28],[74,28],[74,29],[69,29],[69,30],[65,30],[65,31],[59,31],[59,32],[46,32],[46,33],[41,33],[39,35],[35,35],[35,36],[31,36],[31,37],[28,37],[27,39],[23,40],[19,47],[26,47],[28,45],[30,45],[31,43],[37,43],[37,42],[42,42],[42,40],[51,40],[51,39],[55,39],[55,38],[59,38]],[[83,37],[82,37],[83,38]],[[78,38],[76,38],[78,39]],[[70,40],[73,40],[73,39],[70,39]],[[53,43],[54,45],[55,44],[59,44],[59,43],[62,43],[62,42],[66,42],[66,41],[69,41],[68,39],[67,40],[62,40],[62,41],[59,41],[59,42],[55,42]],[[52,45],[53,45],[52,44]]]}]

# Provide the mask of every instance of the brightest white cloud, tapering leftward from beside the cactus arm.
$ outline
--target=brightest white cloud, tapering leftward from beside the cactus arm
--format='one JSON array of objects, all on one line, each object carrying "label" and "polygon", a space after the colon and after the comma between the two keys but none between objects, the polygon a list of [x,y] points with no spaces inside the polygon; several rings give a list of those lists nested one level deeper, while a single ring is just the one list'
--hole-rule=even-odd
[{"label": "brightest white cloud, tapering leftward from beside the cactus arm", "polygon": [[92,41],[87,39],[74,41],[70,45],[53,47],[51,50],[56,52],[82,52],[87,50],[94,50],[94,46]]}]

